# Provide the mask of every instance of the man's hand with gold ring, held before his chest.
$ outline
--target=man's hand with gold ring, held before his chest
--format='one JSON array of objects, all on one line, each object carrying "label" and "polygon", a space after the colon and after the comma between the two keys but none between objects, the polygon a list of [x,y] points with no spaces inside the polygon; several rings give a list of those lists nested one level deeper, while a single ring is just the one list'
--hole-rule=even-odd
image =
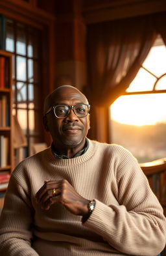
[{"label": "man's hand with gold ring, held before his chest", "polygon": [[36,201],[41,203],[45,210],[49,210],[54,203],[60,203],[75,215],[88,215],[89,200],[79,195],[67,180],[45,181],[45,184],[36,193]]}]

